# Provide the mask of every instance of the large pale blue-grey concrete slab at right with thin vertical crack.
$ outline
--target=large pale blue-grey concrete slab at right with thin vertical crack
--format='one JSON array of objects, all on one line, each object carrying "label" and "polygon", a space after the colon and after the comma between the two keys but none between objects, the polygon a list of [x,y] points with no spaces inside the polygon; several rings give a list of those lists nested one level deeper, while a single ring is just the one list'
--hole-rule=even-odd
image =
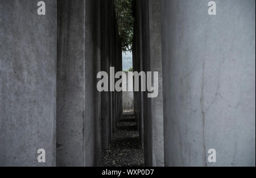
[{"label": "large pale blue-grey concrete slab at right with thin vertical crack", "polygon": [[162,0],[165,163],[255,166],[255,1],[208,2]]}]

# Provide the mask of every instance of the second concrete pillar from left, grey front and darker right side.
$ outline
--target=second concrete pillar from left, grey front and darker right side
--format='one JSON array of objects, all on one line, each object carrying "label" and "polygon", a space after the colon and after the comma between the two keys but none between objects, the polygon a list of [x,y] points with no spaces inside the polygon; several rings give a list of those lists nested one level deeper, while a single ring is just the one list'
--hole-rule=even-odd
[{"label": "second concrete pillar from left, grey front and darker right side", "polygon": [[58,1],[57,166],[100,165],[99,22],[100,1]]}]

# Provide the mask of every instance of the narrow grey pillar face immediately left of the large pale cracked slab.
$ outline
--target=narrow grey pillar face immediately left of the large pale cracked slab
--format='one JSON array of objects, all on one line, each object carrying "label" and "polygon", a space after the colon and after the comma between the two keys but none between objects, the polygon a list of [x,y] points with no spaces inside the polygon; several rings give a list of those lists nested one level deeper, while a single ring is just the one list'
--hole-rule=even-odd
[{"label": "narrow grey pillar face immediately left of the large pale cracked slab", "polygon": [[[158,96],[151,99],[152,166],[164,166],[161,1],[149,0],[150,71],[158,71]],[[152,75],[153,76],[153,75]],[[152,79],[152,83],[154,83]]]}]

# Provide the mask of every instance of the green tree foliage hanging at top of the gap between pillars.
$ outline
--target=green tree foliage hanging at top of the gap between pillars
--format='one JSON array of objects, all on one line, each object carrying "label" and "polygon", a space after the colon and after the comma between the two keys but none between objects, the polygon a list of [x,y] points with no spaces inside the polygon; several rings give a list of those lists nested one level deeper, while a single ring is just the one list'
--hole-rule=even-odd
[{"label": "green tree foliage hanging at top of the gap between pillars", "polygon": [[122,50],[124,52],[131,51],[133,46],[134,0],[114,0],[114,3]]}]

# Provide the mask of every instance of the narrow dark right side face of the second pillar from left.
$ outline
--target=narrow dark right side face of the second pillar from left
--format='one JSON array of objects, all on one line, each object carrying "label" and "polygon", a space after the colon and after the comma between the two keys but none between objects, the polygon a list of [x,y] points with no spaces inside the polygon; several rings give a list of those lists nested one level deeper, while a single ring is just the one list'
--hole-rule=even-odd
[{"label": "narrow dark right side face of the second pillar from left", "polygon": [[101,0],[85,0],[85,166],[101,165]]}]

